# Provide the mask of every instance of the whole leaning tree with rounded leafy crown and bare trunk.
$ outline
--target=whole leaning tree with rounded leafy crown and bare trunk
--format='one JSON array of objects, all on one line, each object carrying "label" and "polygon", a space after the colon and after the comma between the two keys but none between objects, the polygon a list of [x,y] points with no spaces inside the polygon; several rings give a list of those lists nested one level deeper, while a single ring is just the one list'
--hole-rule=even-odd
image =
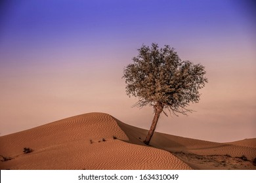
[{"label": "whole leaning tree with rounded leafy crown and bare trunk", "polygon": [[142,45],[138,51],[133,63],[125,67],[123,78],[127,95],[139,98],[135,106],[154,107],[154,119],[144,140],[148,145],[161,112],[166,116],[165,108],[176,116],[192,112],[187,107],[189,103],[198,103],[198,90],[205,86],[207,78],[201,64],[181,61],[174,48],[168,45],[159,48],[158,44],[152,43],[151,48]]}]

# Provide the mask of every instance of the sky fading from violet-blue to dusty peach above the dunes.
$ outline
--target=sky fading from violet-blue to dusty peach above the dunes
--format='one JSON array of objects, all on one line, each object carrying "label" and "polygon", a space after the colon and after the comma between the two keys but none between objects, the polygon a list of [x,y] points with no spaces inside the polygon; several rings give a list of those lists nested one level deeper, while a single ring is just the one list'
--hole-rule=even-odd
[{"label": "sky fading from violet-blue to dusty peach above the dunes", "polygon": [[[123,69],[142,44],[175,48],[209,82],[188,116],[156,131],[214,142],[256,137],[253,1],[1,1],[0,135],[88,112],[149,129]],[[153,137],[154,138],[154,137]]]}]

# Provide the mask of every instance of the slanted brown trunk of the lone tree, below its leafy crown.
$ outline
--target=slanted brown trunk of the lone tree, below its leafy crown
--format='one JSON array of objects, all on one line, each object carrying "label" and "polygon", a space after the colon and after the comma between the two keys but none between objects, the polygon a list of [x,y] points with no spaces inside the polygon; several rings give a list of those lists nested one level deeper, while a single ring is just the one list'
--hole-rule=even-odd
[{"label": "slanted brown trunk of the lone tree, below its leafy crown", "polygon": [[156,129],[156,124],[158,124],[158,119],[159,116],[161,114],[161,112],[163,111],[163,105],[161,105],[161,103],[157,103],[155,106],[155,115],[154,115],[154,119],[152,121],[150,130],[148,131],[148,135],[146,136],[146,139],[144,141],[144,144],[148,145],[150,143],[150,140],[154,134],[154,131]]}]

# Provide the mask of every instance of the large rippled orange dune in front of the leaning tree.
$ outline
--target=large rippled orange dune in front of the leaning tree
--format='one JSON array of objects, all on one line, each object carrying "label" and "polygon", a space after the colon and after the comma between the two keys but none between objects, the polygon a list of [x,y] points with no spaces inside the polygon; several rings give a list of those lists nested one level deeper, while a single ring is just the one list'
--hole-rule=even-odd
[{"label": "large rippled orange dune in front of the leaning tree", "polygon": [[166,150],[130,141],[125,131],[112,116],[89,113],[5,135],[0,169],[191,169]]}]

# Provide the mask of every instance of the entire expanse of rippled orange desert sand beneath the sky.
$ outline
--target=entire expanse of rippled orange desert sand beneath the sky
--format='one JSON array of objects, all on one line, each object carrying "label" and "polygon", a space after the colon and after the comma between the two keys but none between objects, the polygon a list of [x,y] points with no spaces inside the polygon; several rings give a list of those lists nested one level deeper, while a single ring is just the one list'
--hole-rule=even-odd
[{"label": "entire expanse of rippled orange desert sand beneath the sky", "polygon": [[0,169],[256,169],[256,139],[218,143],[155,132],[146,146],[147,132],[105,113],[73,116],[0,137]]}]

